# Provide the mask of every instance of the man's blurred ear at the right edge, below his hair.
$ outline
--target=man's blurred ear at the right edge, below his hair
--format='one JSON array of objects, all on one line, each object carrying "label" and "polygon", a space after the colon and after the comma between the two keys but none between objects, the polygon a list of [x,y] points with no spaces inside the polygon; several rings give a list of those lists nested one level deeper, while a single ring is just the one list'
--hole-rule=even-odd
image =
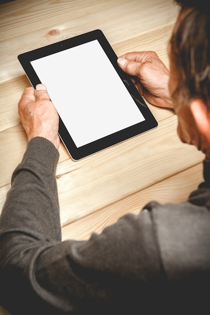
[{"label": "man's blurred ear at the right edge, below his hair", "polygon": [[200,134],[210,143],[210,111],[203,100],[195,99],[190,110]]}]

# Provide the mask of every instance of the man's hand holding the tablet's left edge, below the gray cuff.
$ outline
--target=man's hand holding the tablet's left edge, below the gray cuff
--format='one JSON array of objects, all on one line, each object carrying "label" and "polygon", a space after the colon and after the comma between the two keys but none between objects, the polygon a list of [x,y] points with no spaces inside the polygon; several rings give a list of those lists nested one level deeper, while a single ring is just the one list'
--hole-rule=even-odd
[{"label": "man's hand holding the tablet's left edge, below the gray cuff", "polygon": [[59,117],[44,85],[38,84],[36,90],[26,88],[18,103],[18,112],[28,141],[43,137],[59,148]]}]

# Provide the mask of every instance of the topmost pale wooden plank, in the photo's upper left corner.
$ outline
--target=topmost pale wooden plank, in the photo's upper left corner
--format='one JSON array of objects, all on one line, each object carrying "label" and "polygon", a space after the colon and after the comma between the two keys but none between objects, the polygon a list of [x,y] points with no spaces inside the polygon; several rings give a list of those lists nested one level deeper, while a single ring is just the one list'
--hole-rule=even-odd
[{"label": "topmost pale wooden plank, in the photo's upper left corner", "polygon": [[[1,8],[0,26],[2,39],[18,36],[51,25],[52,21],[62,23],[66,20],[85,17],[90,13],[104,11],[124,5],[128,0],[71,0],[71,1],[44,1],[36,3],[27,0],[15,1]],[[27,29],[25,26],[28,26]],[[15,26],[15,28],[14,28]]]}]

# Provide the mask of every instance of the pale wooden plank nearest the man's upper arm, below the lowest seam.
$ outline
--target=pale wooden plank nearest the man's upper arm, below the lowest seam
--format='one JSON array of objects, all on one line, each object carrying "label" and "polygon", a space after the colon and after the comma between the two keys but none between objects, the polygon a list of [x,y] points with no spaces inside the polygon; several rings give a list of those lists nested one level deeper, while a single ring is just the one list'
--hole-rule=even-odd
[{"label": "pale wooden plank nearest the man's upper arm, below the lowest seam", "polygon": [[151,200],[156,200],[162,204],[185,201],[202,181],[202,163],[200,163],[79,220],[62,226],[62,240],[87,240],[93,232],[100,233],[106,226],[114,224],[122,215],[128,212],[138,214]]}]

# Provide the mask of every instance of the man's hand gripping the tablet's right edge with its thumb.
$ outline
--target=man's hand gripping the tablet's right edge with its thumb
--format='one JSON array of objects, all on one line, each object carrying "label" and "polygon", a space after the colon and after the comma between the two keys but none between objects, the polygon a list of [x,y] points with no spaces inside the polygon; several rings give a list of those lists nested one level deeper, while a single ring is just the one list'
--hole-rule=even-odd
[{"label": "man's hand gripping the tablet's right edge with its thumb", "polygon": [[121,69],[135,76],[138,92],[153,105],[173,108],[168,90],[170,72],[154,51],[130,52],[117,60]]}]

